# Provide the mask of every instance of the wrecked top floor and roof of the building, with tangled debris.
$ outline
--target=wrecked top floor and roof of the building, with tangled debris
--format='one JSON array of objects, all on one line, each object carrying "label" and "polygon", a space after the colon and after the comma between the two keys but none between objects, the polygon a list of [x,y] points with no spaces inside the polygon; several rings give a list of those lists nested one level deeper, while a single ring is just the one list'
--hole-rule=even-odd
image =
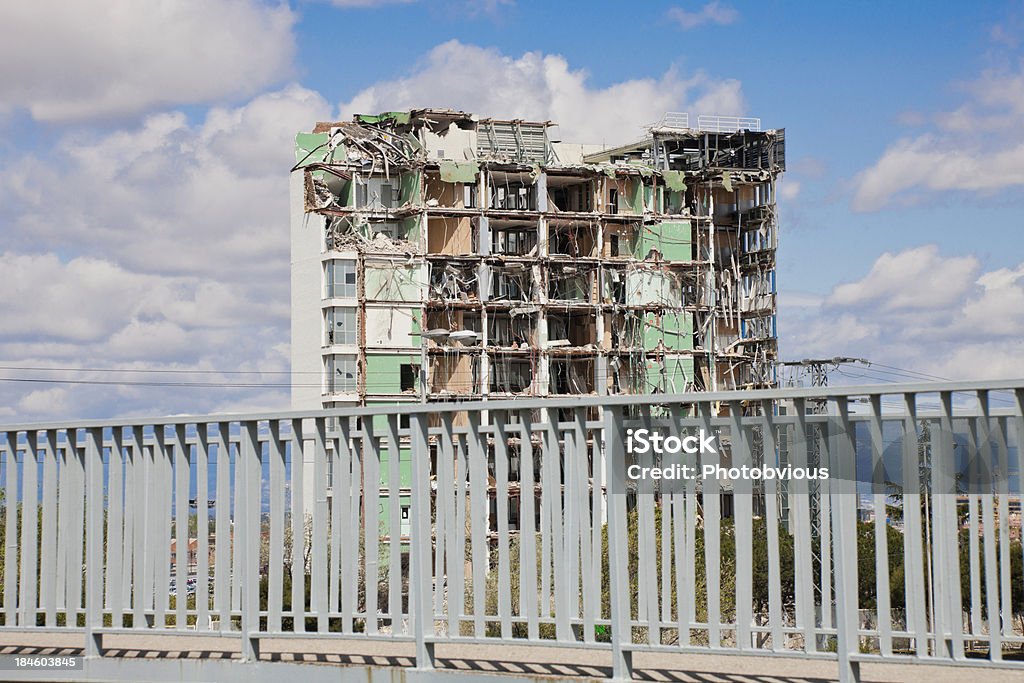
[{"label": "wrecked top floor and roof of the building, with tangled debris", "polygon": [[[469,176],[478,164],[527,169],[587,168],[614,173],[708,173],[722,169],[776,174],[785,170],[785,130],[761,130],[759,119],[667,114],[631,144],[563,142],[551,121],[477,118],[455,110],[423,109],[355,115],[317,123],[296,137],[296,167],[344,175],[435,166],[447,178]],[[465,164],[465,166],[463,166]]]}]

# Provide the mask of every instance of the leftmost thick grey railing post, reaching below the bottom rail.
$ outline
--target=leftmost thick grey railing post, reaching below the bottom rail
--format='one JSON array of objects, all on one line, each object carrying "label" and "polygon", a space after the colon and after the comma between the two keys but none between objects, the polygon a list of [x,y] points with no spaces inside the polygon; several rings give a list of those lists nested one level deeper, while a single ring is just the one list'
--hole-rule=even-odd
[{"label": "leftmost thick grey railing post, reaching below the bottom rail", "polygon": [[103,628],[103,432],[92,428],[85,434],[86,567],[85,655],[100,655],[99,634]]}]

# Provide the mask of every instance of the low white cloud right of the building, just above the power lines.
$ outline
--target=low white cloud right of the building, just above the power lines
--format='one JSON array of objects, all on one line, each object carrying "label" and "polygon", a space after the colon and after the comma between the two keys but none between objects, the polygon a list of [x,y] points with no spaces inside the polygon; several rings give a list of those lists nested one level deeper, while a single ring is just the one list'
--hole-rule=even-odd
[{"label": "low white cloud right of the building, just above the power lines", "polygon": [[802,303],[779,297],[786,358],[851,355],[952,379],[1022,374],[1024,263],[984,271],[929,245],[883,254],[820,305]]}]

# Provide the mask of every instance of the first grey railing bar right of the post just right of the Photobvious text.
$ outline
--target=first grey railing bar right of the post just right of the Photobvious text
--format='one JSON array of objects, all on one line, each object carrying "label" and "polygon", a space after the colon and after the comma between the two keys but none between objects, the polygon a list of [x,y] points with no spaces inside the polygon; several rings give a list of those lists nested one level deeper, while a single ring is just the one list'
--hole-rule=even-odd
[{"label": "first grey railing bar right of the post just right of the Photobvious text", "polygon": [[891,588],[889,585],[889,524],[887,521],[888,477],[885,470],[885,441],[882,434],[882,395],[872,394],[868,431],[871,438],[871,502],[874,507],[874,595],[879,649],[884,656],[893,653]]}]

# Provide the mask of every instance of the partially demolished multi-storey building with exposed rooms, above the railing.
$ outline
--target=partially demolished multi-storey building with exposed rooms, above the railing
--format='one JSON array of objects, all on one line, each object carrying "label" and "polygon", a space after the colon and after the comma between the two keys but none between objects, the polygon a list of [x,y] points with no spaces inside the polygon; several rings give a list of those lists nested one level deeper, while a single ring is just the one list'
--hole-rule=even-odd
[{"label": "partially demolished multi-storey building with exposed rooms, above the railing", "polygon": [[784,130],[554,130],[415,110],[297,136],[296,409],[775,386]]}]

